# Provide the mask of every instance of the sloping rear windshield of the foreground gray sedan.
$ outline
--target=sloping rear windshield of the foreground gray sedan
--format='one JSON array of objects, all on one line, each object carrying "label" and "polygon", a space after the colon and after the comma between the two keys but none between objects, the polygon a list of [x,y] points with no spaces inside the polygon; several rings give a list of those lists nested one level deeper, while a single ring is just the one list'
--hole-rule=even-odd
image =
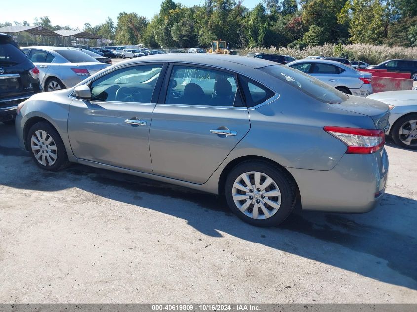
[{"label": "sloping rear windshield of the foreground gray sedan", "polygon": [[331,86],[297,69],[285,65],[271,65],[259,70],[325,103],[341,103],[349,97]]}]

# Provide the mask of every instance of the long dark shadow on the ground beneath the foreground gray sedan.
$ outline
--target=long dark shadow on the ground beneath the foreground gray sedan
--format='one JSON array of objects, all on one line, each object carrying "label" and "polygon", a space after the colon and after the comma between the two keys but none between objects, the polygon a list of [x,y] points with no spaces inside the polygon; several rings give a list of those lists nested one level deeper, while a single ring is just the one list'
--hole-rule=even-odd
[{"label": "long dark shadow on the ground beneath the foreground gray sedan", "polygon": [[[222,237],[227,233],[365,277],[417,289],[413,225],[417,220],[416,200],[385,194],[380,205],[367,214],[303,211],[291,215],[279,227],[257,228],[240,221],[224,200],[211,194],[77,164],[60,172],[39,170],[29,154],[17,147],[14,129],[1,128],[0,163],[24,166],[25,170],[19,176],[0,175],[0,185],[45,192],[76,187],[184,219],[208,236]],[[167,204],[161,205],[161,199],[166,199]]]}]

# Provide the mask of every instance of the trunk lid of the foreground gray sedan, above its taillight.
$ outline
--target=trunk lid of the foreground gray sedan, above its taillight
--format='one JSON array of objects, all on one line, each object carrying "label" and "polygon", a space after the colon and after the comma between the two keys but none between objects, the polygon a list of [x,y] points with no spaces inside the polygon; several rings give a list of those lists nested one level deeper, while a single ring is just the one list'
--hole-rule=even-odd
[{"label": "trunk lid of the foreground gray sedan, above its taillight", "polygon": [[349,95],[349,99],[346,101],[341,103],[329,103],[329,105],[334,108],[369,116],[374,121],[377,129],[388,127],[389,106],[382,102]]}]

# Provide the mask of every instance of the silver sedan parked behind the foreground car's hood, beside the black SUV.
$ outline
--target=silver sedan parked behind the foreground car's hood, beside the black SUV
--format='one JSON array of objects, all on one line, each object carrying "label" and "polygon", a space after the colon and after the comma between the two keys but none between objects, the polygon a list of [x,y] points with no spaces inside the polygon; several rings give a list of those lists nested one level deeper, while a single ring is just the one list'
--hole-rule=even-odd
[{"label": "silver sedan parked behind the foreground car's hood, beside the black SUV", "polygon": [[110,66],[76,48],[33,46],[22,48],[39,71],[45,91],[74,87],[85,78]]}]

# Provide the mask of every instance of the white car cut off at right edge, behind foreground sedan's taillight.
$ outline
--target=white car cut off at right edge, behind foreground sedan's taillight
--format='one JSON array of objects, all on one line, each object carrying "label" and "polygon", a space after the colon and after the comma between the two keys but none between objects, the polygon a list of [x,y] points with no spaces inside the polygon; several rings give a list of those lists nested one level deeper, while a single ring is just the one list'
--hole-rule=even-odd
[{"label": "white car cut off at right edge, behind foreground sedan's taillight", "polygon": [[386,132],[395,143],[417,149],[417,92],[415,90],[387,91],[368,96],[389,105],[390,128]]}]

